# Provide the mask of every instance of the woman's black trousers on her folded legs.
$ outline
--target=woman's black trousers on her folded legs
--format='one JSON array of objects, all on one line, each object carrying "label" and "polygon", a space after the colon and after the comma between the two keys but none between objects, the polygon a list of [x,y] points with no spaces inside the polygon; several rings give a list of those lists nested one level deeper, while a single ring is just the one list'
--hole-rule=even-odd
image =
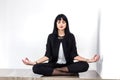
[{"label": "woman's black trousers on her folded legs", "polygon": [[74,62],[72,64],[53,64],[53,63],[40,63],[33,66],[33,72],[45,76],[52,75],[55,68],[67,67],[70,73],[85,72],[89,68],[89,64],[85,61]]}]

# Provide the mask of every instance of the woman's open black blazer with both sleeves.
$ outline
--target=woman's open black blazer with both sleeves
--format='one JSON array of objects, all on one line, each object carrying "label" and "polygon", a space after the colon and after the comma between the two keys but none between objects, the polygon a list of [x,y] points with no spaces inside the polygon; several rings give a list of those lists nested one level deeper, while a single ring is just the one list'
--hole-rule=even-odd
[{"label": "woman's open black blazer with both sleeves", "polygon": [[58,39],[55,34],[49,34],[46,44],[45,56],[49,58],[49,63],[56,63],[58,60],[58,51],[60,42],[63,45],[63,51],[67,64],[73,63],[73,59],[77,54],[75,37],[72,33],[64,36],[62,40]]}]

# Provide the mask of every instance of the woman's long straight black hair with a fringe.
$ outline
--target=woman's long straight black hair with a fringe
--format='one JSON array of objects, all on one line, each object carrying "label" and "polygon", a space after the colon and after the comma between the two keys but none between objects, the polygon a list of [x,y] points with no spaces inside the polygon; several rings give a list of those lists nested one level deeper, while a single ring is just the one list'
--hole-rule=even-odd
[{"label": "woman's long straight black hair with a fringe", "polygon": [[58,35],[58,29],[57,29],[57,21],[61,20],[61,18],[66,22],[66,28],[65,28],[65,35],[70,33],[69,30],[69,23],[68,23],[68,19],[64,14],[59,14],[54,21],[54,29],[53,29],[53,34]]}]

